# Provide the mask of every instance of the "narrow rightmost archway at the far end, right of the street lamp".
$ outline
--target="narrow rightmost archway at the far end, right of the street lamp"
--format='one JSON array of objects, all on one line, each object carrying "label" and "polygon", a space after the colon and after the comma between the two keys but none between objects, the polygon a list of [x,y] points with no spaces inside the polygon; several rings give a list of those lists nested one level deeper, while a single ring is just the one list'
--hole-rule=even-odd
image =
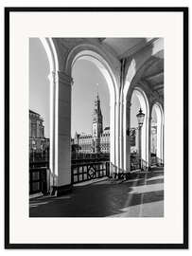
[{"label": "narrow rightmost archway at the far end, right of the street lamp", "polygon": [[[159,102],[152,105],[151,118],[150,151],[156,156],[155,163],[162,166],[164,164],[164,111]],[[154,133],[152,133],[152,129]]]}]

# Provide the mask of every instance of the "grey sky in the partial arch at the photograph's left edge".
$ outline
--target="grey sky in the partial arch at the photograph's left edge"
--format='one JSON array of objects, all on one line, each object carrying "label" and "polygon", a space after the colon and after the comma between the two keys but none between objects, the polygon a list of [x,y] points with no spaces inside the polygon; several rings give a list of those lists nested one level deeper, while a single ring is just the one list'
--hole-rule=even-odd
[{"label": "grey sky in the partial arch at the photograph's left edge", "polygon": [[44,119],[44,135],[49,137],[49,64],[40,39],[29,40],[29,109]]}]

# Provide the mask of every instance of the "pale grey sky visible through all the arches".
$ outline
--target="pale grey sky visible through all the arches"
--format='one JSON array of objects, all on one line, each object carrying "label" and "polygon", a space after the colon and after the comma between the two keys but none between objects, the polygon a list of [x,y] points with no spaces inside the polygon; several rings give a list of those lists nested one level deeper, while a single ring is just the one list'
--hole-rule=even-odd
[{"label": "pale grey sky visible through all the arches", "polygon": [[[29,40],[29,109],[44,119],[44,135],[49,137],[49,64],[40,39]],[[86,60],[77,61],[72,69],[71,135],[75,132],[91,133],[94,101],[98,90],[103,128],[110,126],[110,95],[102,73]],[[98,85],[96,85],[98,83]],[[136,114],[140,103],[135,95],[131,99],[131,127],[137,126]]]}]

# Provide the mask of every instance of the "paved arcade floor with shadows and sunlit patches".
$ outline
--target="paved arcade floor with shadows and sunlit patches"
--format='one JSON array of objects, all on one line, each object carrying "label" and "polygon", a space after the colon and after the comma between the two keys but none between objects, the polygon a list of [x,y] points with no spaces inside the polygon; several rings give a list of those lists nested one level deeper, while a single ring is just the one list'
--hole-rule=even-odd
[{"label": "paved arcade floor with shadows and sunlit patches", "polygon": [[163,217],[164,173],[79,184],[60,197],[29,200],[30,217]]}]

